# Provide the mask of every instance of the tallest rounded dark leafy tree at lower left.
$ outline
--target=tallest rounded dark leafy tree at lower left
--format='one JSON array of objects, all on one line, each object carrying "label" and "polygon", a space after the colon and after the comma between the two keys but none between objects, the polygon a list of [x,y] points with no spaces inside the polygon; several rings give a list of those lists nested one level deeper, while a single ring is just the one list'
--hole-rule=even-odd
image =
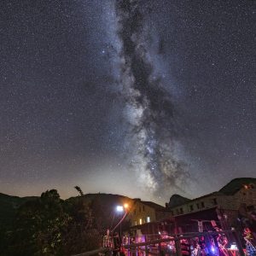
[{"label": "tallest rounded dark leafy tree at lower left", "polygon": [[19,209],[10,233],[10,255],[61,255],[62,233],[69,216],[55,189]]}]

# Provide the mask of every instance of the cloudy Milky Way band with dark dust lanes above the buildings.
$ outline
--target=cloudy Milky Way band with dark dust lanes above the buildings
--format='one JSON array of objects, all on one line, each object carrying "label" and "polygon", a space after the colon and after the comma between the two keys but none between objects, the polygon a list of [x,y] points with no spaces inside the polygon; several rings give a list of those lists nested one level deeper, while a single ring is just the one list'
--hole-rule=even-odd
[{"label": "cloudy Milky Way band with dark dust lanes above the buildings", "polygon": [[[131,169],[139,182],[155,195],[170,189],[182,190],[189,172],[175,154],[178,141],[176,109],[172,95],[155,75],[150,55],[149,7],[143,1],[117,1],[119,50],[119,86],[125,100],[129,123],[127,140],[131,143]],[[130,152],[130,153],[131,153]]]}]

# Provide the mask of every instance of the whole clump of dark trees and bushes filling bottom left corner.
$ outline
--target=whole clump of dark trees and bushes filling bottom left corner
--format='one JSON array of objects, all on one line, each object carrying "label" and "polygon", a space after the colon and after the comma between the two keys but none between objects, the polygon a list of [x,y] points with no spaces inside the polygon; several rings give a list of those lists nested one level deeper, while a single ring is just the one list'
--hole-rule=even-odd
[{"label": "whole clump of dark trees and bushes filling bottom left corner", "polygon": [[1,255],[71,255],[99,247],[92,211],[82,197],[62,201],[55,189],[27,201],[15,223],[0,232]]}]

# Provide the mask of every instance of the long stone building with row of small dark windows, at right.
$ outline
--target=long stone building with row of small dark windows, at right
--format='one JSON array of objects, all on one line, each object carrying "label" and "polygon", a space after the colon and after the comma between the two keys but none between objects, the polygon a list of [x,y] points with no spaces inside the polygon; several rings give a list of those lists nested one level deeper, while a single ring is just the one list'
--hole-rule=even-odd
[{"label": "long stone building with row of small dark windows, at right", "polygon": [[[241,209],[244,212],[256,208],[256,178],[236,178],[224,188],[193,200],[172,200],[166,203],[176,224],[175,233],[198,230],[198,221],[203,220],[203,229],[211,227],[211,220],[224,229],[238,228]],[[179,202],[182,202],[181,204]]]}]

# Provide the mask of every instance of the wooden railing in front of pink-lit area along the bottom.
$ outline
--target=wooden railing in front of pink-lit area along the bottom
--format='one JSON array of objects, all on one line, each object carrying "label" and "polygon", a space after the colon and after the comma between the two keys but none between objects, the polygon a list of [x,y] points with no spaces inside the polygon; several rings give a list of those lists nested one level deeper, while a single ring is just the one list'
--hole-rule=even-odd
[{"label": "wooden railing in front of pink-lit area along the bottom", "polygon": [[[241,246],[241,241],[239,239],[238,233],[235,230],[225,230],[225,231],[212,231],[212,232],[193,232],[193,233],[185,233],[185,234],[178,234],[178,235],[173,235],[168,238],[162,238],[162,239],[156,239],[154,241],[143,241],[143,242],[137,242],[137,243],[130,243],[130,244],[125,244],[122,247],[125,249],[125,254],[127,256],[131,255],[136,255],[138,256],[139,254],[143,255],[163,255],[163,254],[169,254],[169,255],[175,255],[175,256],[181,256],[182,251],[181,251],[181,243],[180,240],[188,240],[191,238],[195,237],[206,237],[209,239],[210,236],[218,236],[218,235],[224,235],[228,236],[231,238],[232,241],[236,242],[237,246],[237,253],[239,253],[240,256],[244,256],[244,251]],[[165,252],[165,247],[166,243],[168,242],[174,242],[175,245],[175,253],[166,253]],[[110,254],[113,251],[112,248],[108,247],[101,247],[98,248],[94,251],[90,252],[85,252],[85,253],[80,253],[76,254],[73,256],[90,256],[90,255],[96,255],[99,253],[105,253],[105,254]]]}]

